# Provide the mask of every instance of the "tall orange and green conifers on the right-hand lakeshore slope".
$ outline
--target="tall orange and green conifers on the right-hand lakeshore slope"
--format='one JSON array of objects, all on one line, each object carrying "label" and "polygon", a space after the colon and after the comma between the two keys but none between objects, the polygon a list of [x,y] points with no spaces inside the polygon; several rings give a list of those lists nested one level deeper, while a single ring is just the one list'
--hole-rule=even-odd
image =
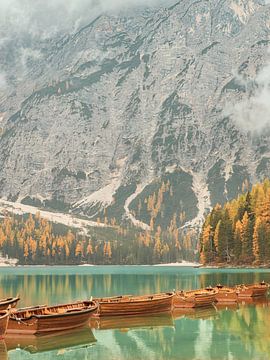
[{"label": "tall orange and green conifers on the right-hand lakeshore slope", "polygon": [[252,186],[206,217],[200,235],[203,264],[270,264],[270,180]]}]

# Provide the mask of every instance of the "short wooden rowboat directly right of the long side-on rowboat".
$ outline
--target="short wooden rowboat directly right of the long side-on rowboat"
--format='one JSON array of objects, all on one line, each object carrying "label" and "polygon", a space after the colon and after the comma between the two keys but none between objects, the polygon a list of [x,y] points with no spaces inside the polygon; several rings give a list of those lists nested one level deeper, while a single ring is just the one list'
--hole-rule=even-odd
[{"label": "short wooden rowboat directly right of the long side-on rowboat", "polygon": [[215,302],[216,290],[177,291],[173,299],[174,308],[197,308],[212,306]]}]

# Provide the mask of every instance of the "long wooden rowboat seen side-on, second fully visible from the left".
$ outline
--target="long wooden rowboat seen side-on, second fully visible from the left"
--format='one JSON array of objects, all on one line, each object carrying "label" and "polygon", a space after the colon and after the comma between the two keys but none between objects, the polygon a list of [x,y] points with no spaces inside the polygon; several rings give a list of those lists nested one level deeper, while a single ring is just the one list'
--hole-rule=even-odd
[{"label": "long wooden rowboat seen side-on, second fully visible from the left", "polygon": [[149,315],[171,312],[173,297],[174,293],[161,293],[95,298],[94,301],[98,303],[98,316]]}]

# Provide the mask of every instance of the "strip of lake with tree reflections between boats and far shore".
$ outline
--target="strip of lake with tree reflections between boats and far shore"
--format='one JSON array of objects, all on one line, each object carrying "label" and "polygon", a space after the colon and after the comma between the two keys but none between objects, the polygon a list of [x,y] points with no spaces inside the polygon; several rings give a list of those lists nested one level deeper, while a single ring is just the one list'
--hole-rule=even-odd
[{"label": "strip of lake with tree reflections between boats and far shore", "polygon": [[128,267],[125,274],[100,274],[95,273],[95,267],[95,269],[81,268],[80,273],[77,274],[78,268],[73,269],[75,273],[72,273],[70,268],[68,271],[63,268],[59,270],[52,268],[49,274],[48,268],[40,269],[37,274],[35,273],[37,270],[32,268],[28,269],[28,273],[25,273],[25,269],[21,270],[22,273],[16,269],[16,275],[10,270],[1,270],[0,298],[20,294],[19,306],[29,306],[69,302],[91,296],[143,295],[172,289],[189,290],[218,283],[232,286],[261,280],[270,282],[269,272],[224,272],[201,269],[182,269],[181,271],[176,269],[175,272],[169,269],[170,272],[168,272],[167,268],[161,270],[155,267],[149,267],[142,272],[142,268],[138,267],[137,274],[136,267]]}]

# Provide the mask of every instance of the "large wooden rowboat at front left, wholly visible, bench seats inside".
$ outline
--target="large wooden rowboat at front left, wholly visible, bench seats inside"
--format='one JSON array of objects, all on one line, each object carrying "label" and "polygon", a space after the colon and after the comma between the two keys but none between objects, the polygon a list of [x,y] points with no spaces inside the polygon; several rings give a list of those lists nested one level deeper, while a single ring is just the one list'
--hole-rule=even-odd
[{"label": "large wooden rowboat at front left, wholly visible, bench seats inside", "polygon": [[7,333],[39,334],[83,327],[96,310],[93,301],[16,309],[10,314]]}]

